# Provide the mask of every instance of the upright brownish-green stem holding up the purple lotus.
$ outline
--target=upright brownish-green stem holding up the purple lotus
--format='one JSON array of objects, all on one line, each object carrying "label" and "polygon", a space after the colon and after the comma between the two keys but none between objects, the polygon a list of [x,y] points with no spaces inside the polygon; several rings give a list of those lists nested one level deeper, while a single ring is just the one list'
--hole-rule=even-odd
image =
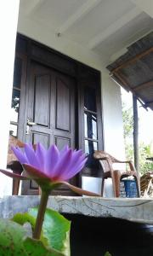
[{"label": "upright brownish-green stem holding up the purple lotus", "polygon": [[33,231],[34,239],[40,239],[40,236],[41,236],[44,214],[45,214],[47,203],[48,203],[48,195],[49,195],[48,191],[42,190],[41,201],[40,201],[40,205],[37,212],[36,225]]}]

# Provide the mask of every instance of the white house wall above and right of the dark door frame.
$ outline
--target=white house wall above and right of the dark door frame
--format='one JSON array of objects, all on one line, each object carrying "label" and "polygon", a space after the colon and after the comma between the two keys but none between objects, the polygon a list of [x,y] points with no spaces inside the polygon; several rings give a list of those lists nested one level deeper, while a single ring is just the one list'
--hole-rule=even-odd
[{"label": "white house wall above and right of the dark door frame", "polygon": [[124,155],[124,147],[120,88],[109,78],[99,55],[80,44],[68,40],[65,35],[57,37],[47,27],[42,27],[36,21],[24,17],[21,13],[19,15],[18,32],[101,72],[105,150],[121,158]]}]

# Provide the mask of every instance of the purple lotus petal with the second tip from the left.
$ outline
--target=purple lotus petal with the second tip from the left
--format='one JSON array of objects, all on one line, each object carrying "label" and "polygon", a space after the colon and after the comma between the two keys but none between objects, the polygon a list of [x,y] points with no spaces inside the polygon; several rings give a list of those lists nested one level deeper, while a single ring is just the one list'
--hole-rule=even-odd
[{"label": "purple lotus petal with the second tip from the left", "polygon": [[25,153],[26,153],[26,157],[29,161],[29,164],[31,166],[35,166],[36,168],[40,169],[41,166],[39,165],[39,161],[37,160],[35,150],[31,146],[31,144],[25,145]]}]

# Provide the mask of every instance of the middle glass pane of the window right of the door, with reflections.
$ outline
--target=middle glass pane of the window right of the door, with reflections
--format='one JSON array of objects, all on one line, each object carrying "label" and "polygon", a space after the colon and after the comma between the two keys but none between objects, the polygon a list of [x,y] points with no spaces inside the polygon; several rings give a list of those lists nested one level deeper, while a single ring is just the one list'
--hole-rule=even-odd
[{"label": "middle glass pane of the window right of the door, with reflections", "polygon": [[84,113],[84,131],[85,137],[97,140],[97,114]]}]

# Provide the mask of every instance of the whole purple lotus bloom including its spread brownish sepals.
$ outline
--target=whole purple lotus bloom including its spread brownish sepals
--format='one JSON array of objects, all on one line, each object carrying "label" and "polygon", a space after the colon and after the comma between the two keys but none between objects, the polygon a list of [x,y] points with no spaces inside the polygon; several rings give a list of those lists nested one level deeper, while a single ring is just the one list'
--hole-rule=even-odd
[{"label": "whole purple lotus bloom including its spread brownish sepals", "polygon": [[65,184],[79,195],[99,196],[94,192],[77,188],[66,182],[80,172],[85,165],[87,158],[85,154],[82,154],[82,150],[72,150],[65,146],[59,151],[55,145],[47,150],[40,143],[34,146],[22,143],[22,147],[24,150],[19,147],[12,147],[12,150],[28,176],[3,169],[0,169],[0,172],[15,179],[34,179],[42,191],[48,191],[48,193],[56,186]]}]

